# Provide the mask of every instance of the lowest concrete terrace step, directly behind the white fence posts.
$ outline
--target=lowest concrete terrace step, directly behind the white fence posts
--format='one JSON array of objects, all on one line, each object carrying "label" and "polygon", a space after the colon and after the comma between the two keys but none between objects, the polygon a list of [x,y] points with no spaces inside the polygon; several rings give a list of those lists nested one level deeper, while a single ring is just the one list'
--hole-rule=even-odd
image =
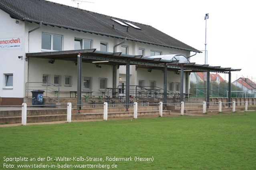
[{"label": "lowest concrete terrace step, directly behind the white fence posts", "polygon": [[[171,114],[171,111],[163,111],[164,115]],[[148,110],[148,111],[138,111],[138,116],[152,116],[159,115],[158,110]],[[111,117],[132,117],[133,112],[109,112],[108,118]],[[90,119],[90,118],[103,118],[103,113],[86,113],[86,114],[72,114],[72,119]],[[52,114],[52,115],[37,115],[37,116],[27,116],[27,122],[50,122],[56,120],[67,120],[67,114]],[[20,123],[21,117],[4,117],[0,118],[0,124],[5,123]]]}]

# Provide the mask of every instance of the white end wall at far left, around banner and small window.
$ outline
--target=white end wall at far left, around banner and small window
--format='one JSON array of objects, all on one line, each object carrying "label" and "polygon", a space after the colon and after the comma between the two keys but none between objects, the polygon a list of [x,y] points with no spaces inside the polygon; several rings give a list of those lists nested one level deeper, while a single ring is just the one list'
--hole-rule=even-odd
[{"label": "white end wall at far left, around banner and small window", "polygon": [[[25,40],[24,22],[15,23],[15,19],[10,18],[9,14],[0,10],[1,28],[0,39],[22,37],[22,48],[0,50],[0,97],[23,98],[24,92],[24,68],[25,62]],[[23,56],[19,59],[18,56]],[[13,88],[4,89],[4,74],[13,74]]]}]

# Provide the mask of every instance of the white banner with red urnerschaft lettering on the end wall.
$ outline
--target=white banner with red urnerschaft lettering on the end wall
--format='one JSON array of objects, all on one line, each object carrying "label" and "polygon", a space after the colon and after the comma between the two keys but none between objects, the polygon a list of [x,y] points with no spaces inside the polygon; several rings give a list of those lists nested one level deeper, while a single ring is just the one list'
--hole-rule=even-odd
[{"label": "white banner with red urnerschaft lettering on the end wall", "polygon": [[0,39],[0,50],[22,48],[22,37]]}]

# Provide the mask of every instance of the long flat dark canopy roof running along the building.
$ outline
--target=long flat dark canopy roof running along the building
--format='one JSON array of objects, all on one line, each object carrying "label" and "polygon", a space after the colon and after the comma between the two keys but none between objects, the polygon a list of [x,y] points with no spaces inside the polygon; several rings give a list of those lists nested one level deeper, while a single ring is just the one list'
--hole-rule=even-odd
[{"label": "long flat dark canopy roof running along the building", "polygon": [[[96,51],[96,49],[89,50],[69,50],[69,51],[56,51],[56,52],[38,52],[27,53],[27,58],[44,58],[51,60],[67,60],[77,62],[77,55],[81,55],[83,62],[99,62],[105,61],[100,64],[112,64],[112,65],[126,65],[127,61],[130,61],[131,65],[137,65],[141,68],[161,69],[167,65],[168,70],[180,70],[183,67],[184,70],[189,72],[220,72],[228,73],[230,71],[240,71],[241,69],[222,68],[220,66],[209,66],[208,64],[195,64],[185,61],[185,56],[180,54],[171,54],[163,56],[134,56],[122,54],[121,52],[102,52]],[[168,60],[171,58],[170,60]]]}]

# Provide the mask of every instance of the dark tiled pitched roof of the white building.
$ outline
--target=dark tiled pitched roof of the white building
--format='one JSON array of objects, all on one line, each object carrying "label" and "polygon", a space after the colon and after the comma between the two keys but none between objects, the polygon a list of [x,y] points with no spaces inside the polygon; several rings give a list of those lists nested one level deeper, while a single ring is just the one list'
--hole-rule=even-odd
[{"label": "dark tiled pitched roof of the white building", "polygon": [[[129,26],[129,32],[127,32],[126,27],[111,20],[111,18],[115,17],[46,0],[0,0],[0,9],[20,20],[34,21],[37,23],[42,21],[43,24],[105,34],[117,38],[127,37],[128,40],[200,52],[152,26],[128,21],[140,27],[141,30]],[[118,20],[126,21],[122,19]],[[115,29],[113,29],[113,23],[115,24]]]}]

